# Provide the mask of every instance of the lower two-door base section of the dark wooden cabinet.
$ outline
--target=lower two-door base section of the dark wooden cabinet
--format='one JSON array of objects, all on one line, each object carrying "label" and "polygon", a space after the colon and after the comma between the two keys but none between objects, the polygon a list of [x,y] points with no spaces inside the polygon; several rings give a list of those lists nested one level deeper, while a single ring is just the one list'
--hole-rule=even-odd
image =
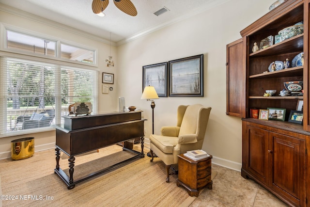
[{"label": "lower two-door base section of the dark wooden cabinet", "polygon": [[[273,121],[276,122],[276,121]],[[308,135],[243,121],[241,175],[253,178],[293,206],[306,206]]]}]

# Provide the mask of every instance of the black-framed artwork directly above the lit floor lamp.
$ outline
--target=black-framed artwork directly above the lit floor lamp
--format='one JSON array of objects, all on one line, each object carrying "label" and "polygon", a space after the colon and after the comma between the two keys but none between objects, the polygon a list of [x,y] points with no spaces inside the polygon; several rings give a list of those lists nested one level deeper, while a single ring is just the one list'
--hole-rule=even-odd
[{"label": "black-framed artwork directly above the lit floor lamp", "polygon": [[154,86],[159,97],[167,97],[168,63],[150,64],[142,67],[142,91],[145,86]]}]

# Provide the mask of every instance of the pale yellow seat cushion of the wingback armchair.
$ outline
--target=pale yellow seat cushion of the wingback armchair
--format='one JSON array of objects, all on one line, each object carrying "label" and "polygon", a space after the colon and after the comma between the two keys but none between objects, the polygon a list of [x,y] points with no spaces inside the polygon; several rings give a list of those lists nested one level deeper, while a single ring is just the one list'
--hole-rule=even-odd
[{"label": "pale yellow seat cushion of the wingback armchair", "polygon": [[178,143],[178,138],[152,134],[150,136],[150,141],[154,143],[162,152],[172,154],[173,147]]}]

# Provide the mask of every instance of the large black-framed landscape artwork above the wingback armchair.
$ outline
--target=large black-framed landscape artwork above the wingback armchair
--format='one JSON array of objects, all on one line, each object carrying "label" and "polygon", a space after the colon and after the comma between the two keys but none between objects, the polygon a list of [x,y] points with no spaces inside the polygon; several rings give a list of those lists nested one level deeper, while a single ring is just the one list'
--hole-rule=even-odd
[{"label": "large black-framed landscape artwork above the wingback armchair", "polygon": [[203,96],[203,54],[169,61],[169,96]]}]

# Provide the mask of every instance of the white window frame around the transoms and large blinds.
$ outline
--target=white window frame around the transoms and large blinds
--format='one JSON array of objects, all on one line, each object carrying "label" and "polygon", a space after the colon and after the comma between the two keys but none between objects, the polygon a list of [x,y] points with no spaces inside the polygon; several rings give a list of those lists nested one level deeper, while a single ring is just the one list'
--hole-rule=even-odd
[{"label": "white window frame around the transoms and large blinds", "polygon": [[[29,52],[23,52],[20,50],[7,48],[7,39],[6,39],[7,30],[22,33],[22,34],[24,33],[26,35],[33,35],[34,37],[38,37],[38,38],[42,38],[42,39],[48,39],[51,41],[56,41],[56,48],[55,48],[56,57],[45,56],[45,55],[41,55],[41,54],[33,54],[33,53],[29,53]],[[61,44],[65,44],[65,45],[69,45],[69,46],[93,51],[93,64],[85,63],[85,62],[72,61],[72,60],[68,60],[68,59],[62,59],[61,53],[60,53]],[[0,23],[0,56],[5,57],[5,58],[14,58],[14,59],[23,59],[23,60],[28,60],[28,61],[34,61],[34,62],[41,62],[41,63],[46,63],[46,64],[55,64],[55,65],[58,65],[59,67],[62,67],[62,66],[66,67],[66,68],[67,67],[73,67],[73,68],[79,68],[82,70],[95,71],[97,74],[95,76],[95,82],[93,83],[94,84],[93,87],[95,90],[93,92],[94,93],[94,95],[93,95],[94,96],[93,112],[98,111],[99,69],[98,69],[98,63],[97,63],[97,60],[98,60],[97,48],[94,49],[94,48],[90,48],[90,47],[85,47],[85,46],[82,46],[82,45],[74,43],[74,42],[56,39],[56,38],[50,37],[48,35],[43,35],[43,34],[39,34],[37,32],[31,32],[31,31],[27,31],[24,29],[16,28],[16,27],[11,26],[11,25]],[[0,75],[2,73],[3,73],[3,70],[1,69]],[[3,95],[3,90],[4,89],[0,88],[0,96]],[[59,95],[61,96],[61,94],[59,94]],[[1,118],[1,122],[3,122],[3,121],[6,122],[7,109],[8,109],[7,103],[6,104],[5,103],[0,104],[0,113],[3,112],[2,113],[3,117]],[[61,120],[61,115],[59,115],[59,114],[61,114],[61,109],[56,109],[56,117],[55,117],[56,123],[59,123]],[[6,127],[5,127],[6,124],[5,125],[3,124],[3,126],[4,126],[3,128],[0,128],[0,138],[55,130],[54,127],[42,127],[42,128],[33,128],[31,130],[19,130],[19,131],[7,132]]]}]

